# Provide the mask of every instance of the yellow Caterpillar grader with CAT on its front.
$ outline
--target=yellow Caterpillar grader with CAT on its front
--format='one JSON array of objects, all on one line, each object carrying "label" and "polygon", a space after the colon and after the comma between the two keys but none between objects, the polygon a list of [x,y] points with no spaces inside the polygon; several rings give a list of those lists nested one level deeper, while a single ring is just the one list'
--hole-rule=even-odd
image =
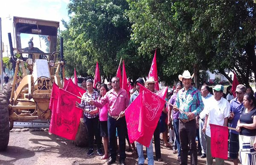
[{"label": "yellow Caterpillar grader with CAT on its front", "polygon": [[14,17],[13,26],[15,46],[10,34],[9,43],[14,79],[0,92],[0,151],[7,148],[14,122],[51,118],[52,83],[62,88],[65,78],[62,40],[60,53],[56,51],[59,22]]}]

